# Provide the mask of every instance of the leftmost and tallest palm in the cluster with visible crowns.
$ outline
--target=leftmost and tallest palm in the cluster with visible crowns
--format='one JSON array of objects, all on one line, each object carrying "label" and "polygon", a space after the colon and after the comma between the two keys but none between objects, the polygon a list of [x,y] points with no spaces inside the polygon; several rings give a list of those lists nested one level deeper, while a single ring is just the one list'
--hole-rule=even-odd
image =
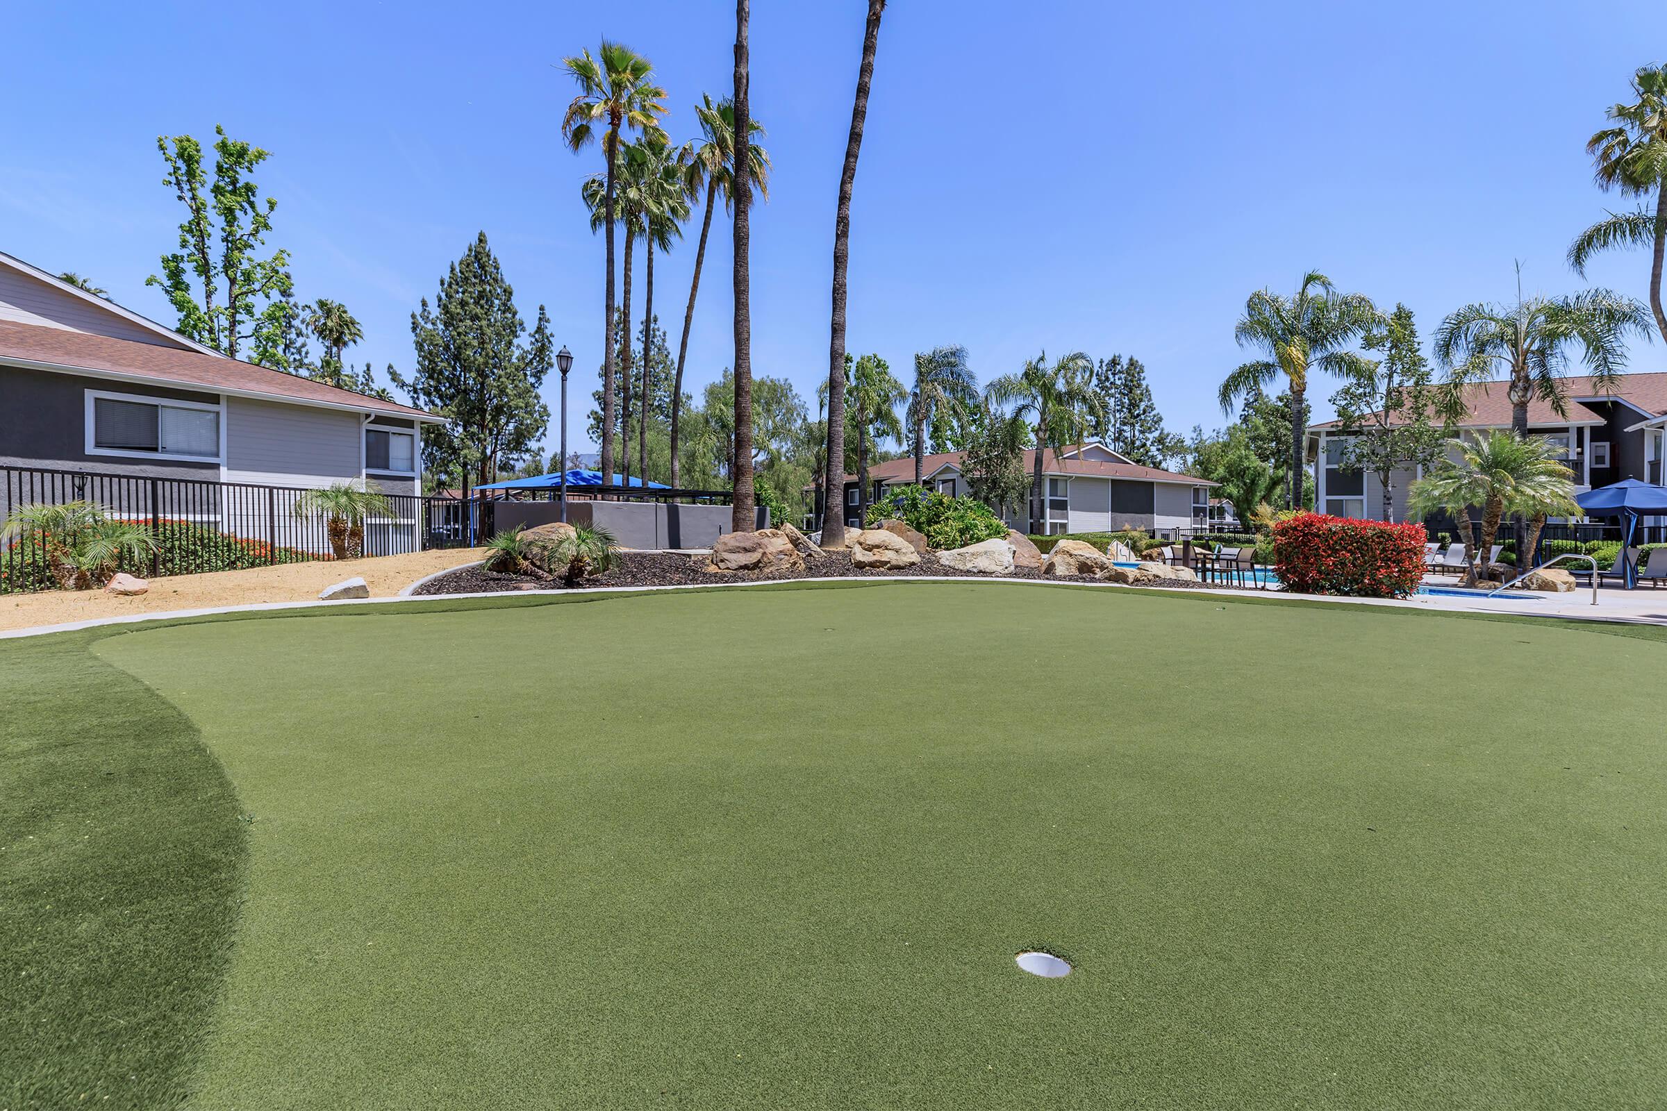
[{"label": "leftmost and tallest palm in the cluster with visible crowns", "polygon": [[[567,72],[578,82],[578,95],[562,115],[562,138],[570,148],[583,150],[603,123],[602,153],[608,163],[603,183],[603,223],[608,232],[607,290],[602,323],[602,475],[613,475],[613,177],[618,168],[620,130],[658,132],[665,113],[665,90],[653,83],[653,67],[622,43],[602,40],[597,57],[590,52],[563,58]],[[627,331],[630,328],[627,326]]]}]

